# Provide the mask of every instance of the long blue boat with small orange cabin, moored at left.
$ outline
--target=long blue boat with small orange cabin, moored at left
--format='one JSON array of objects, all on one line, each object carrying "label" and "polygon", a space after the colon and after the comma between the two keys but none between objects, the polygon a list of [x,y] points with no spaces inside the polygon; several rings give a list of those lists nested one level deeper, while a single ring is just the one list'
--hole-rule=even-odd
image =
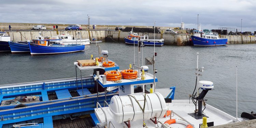
[{"label": "long blue boat with small orange cabin, moored at left", "polygon": [[56,44],[53,40],[33,40],[28,43],[31,55],[63,54],[83,51],[85,45],[81,44]]}]

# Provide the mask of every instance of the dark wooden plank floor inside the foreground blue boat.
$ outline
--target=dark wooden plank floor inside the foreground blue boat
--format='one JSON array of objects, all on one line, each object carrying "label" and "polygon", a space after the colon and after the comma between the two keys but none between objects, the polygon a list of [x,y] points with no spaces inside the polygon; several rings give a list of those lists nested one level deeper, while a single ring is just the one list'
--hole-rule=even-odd
[{"label": "dark wooden plank floor inside the foreground blue boat", "polygon": [[93,128],[91,117],[79,118],[74,120],[70,118],[53,120],[54,128]]}]

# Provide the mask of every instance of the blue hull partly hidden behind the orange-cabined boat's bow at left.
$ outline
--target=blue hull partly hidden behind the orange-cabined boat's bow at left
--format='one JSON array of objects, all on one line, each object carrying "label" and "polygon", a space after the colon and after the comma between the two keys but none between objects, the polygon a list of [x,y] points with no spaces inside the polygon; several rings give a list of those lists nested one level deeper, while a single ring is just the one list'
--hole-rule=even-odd
[{"label": "blue hull partly hidden behind the orange-cabined boat's bow at left", "polygon": [[9,42],[12,53],[29,53],[29,46],[25,43]]}]

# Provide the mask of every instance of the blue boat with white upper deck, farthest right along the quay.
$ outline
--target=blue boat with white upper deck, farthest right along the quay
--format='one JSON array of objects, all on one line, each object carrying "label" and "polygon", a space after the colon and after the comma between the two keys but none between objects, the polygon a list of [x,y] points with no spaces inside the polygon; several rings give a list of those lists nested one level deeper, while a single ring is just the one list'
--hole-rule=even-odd
[{"label": "blue boat with white upper deck, farthest right along the quay", "polygon": [[228,43],[227,38],[219,38],[217,32],[194,30],[191,35],[194,46],[222,46]]}]

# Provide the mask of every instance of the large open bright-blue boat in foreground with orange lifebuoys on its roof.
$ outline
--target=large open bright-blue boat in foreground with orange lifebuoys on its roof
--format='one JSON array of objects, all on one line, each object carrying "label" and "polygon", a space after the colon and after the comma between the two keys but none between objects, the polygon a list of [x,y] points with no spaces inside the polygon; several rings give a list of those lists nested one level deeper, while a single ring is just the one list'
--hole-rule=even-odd
[{"label": "large open bright-blue boat in foreground with orange lifebuoys on its roof", "polygon": [[[108,76],[114,76],[111,72],[118,72],[119,67],[108,60],[107,53],[102,51],[104,56],[91,60],[94,61],[92,65],[87,63],[88,60],[74,62],[76,69],[93,69],[94,75],[82,77],[81,73],[81,77],[69,79],[0,85],[0,128],[19,127],[21,124],[31,128],[35,124],[40,128],[53,128],[57,120],[68,119],[68,123],[88,113],[90,118],[97,118],[93,111],[98,103],[102,106],[109,104],[113,96],[118,92],[126,95],[129,88],[133,93],[149,93],[151,85],[158,81],[157,78],[154,80],[153,74],[146,72],[142,78],[143,71],[140,70],[137,70],[138,78],[133,80],[108,80]],[[162,89],[168,92],[165,98],[169,99],[174,98],[174,90],[175,87]],[[97,125],[97,121],[93,123]]]}]

